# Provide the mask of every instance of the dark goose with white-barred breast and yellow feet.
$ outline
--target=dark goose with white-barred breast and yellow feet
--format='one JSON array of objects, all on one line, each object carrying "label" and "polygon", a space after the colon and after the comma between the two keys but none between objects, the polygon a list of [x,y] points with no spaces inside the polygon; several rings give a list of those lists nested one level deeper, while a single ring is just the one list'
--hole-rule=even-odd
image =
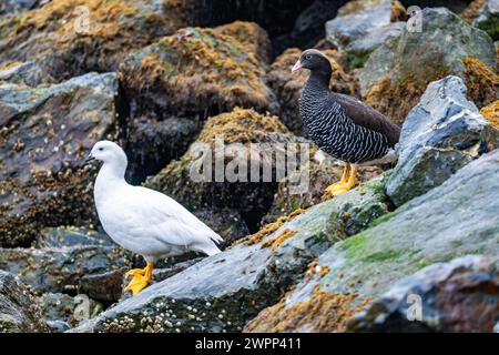
[{"label": "dark goose with white-barred breast and yellow feet", "polygon": [[304,51],[292,71],[303,68],[310,71],[299,100],[303,123],[320,150],[345,162],[342,180],[326,189],[338,195],[357,184],[358,164],[396,159],[400,128],[356,98],[332,92],[332,65],[320,51]]}]

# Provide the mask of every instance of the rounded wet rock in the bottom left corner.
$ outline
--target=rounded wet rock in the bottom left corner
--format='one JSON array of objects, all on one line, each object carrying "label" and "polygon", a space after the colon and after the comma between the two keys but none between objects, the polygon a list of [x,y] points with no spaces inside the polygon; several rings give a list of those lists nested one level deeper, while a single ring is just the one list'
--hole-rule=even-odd
[{"label": "rounded wet rock in the bottom left corner", "polygon": [[39,333],[49,327],[28,288],[0,270],[0,333]]}]

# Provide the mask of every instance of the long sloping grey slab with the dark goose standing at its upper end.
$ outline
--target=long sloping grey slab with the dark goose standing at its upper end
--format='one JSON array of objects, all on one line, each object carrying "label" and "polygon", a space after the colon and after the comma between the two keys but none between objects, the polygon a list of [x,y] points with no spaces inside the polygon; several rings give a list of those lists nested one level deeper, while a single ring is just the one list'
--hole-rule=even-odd
[{"label": "long sloping grey slab with the dark goose standing at its upper end", "polygon": [[348,226],[366,227],[385,213],[383,199],[383,186],[373,184],[316,205],[262,241],[240,243],[145,288],[79,331],[241,331]]}]

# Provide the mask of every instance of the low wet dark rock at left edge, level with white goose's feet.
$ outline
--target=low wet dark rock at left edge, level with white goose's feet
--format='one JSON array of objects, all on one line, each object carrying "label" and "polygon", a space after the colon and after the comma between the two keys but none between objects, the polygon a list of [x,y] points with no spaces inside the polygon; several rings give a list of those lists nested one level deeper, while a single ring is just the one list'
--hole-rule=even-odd
[{"label": "low wet dark rock at left edge, level with white goose's feet", "polygon": [[129,262],[120,247],[0,248],[0,268],[19,275],[37,293],[72,293],[83,276],[119,270]]}]

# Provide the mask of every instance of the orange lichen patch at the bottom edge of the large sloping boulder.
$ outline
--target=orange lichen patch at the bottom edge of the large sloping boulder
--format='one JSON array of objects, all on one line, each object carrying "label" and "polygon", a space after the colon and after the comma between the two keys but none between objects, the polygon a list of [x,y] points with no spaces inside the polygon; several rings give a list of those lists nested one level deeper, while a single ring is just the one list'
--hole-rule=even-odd
[{"label": "orange lichen patch at the bottom edge of the large sloping boulder", "polygon": [[357,293],[335,294],[322,291],[319,284],[305,302],[288,306],[288,296],[286,294],[277,304],[263,310],[246,324],[243,332],[343,332],[352,316],[371,302],[369,298],[359,300]]}]

